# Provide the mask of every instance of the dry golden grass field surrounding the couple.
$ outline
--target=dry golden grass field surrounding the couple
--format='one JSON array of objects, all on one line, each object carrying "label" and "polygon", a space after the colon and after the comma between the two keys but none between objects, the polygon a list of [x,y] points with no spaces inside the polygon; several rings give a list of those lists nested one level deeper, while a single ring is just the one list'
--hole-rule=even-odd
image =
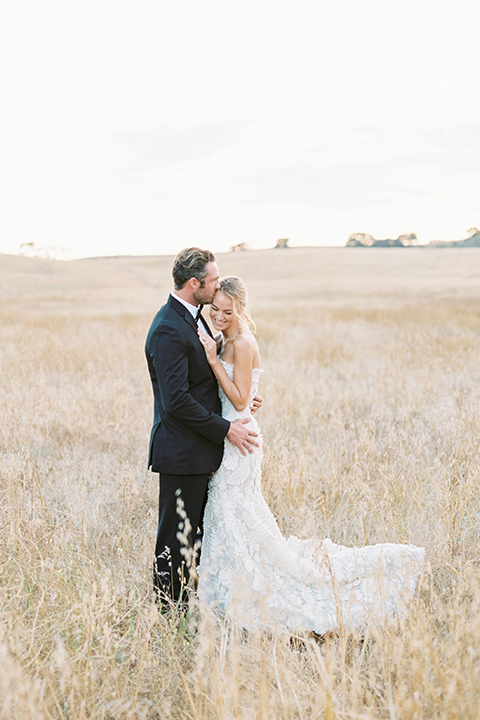
[{"label": "dry golden grass field surrounding the couple", "polygon": [[170,257],[0,255],[0,718],[480,716],[480,251],[218,257],[263,356],[282,530],[408,542],[408,614],[363,636],[160,617],[143,343]]}]

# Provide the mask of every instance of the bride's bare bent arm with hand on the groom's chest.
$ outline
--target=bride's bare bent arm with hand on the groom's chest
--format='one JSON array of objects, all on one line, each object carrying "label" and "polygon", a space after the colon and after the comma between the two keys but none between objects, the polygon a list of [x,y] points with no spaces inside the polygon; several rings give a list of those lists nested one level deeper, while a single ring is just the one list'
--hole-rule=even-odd
[{"label": "bride's bare bent arm with hand on the groom's chest", "polygon": [[205,333],[199,333],[207,360],[225,395],[235,410],[245,410],[252,389],[252,364],[254,348],[246,338],[238,337],[233,348],[233,380],[228,377],[225,368],[217,356],[215,341]]}]

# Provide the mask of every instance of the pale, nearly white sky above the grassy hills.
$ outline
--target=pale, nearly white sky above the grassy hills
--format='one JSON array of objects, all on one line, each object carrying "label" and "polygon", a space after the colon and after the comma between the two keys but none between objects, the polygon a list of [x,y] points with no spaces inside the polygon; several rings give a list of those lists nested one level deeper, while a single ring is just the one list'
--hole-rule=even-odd
[{"label": "pale, nearly white sky above the grassy hills", "polygon": [[15,0],[0,252],[464,238],[479,31],[478,0]]}]

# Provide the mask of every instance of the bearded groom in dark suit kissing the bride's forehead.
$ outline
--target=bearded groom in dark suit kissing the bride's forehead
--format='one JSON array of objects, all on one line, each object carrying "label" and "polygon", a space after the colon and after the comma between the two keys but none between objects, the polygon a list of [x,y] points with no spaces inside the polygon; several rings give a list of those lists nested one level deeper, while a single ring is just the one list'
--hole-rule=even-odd
[{"label": "bearded groom in dark suit kissing the bride's forehead", "polygon": [[258,445],[248,419],[221,417],[217,381],[198,338],[199,329],[211,335],[200,311],[220,287],[215,256],[195,247],[182,250],[172,275],[174,290],[145,345],[154,396],[148,465],[160,474],[154,587],[163,608],[186,601],[208,479],[220,466],[224,439],[244,455]]}]

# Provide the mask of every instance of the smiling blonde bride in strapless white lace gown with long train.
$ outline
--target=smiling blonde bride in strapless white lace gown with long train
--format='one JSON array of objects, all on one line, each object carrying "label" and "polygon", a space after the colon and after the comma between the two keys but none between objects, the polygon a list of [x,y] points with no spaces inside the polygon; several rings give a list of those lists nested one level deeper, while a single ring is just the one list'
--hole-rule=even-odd
[{"label": "smiling blonde bride in strapless white lace gown with long train", "polygon": [[[218,380],[222,415],[251,418],[262,370],[249,324],[247,293],[238,277],[221,280],[210,318],[223,335],[199,332]],[[384,622],[406,607],[424,549],[384,543],[362,548],[328,539],[284,538],[261,492],[262,442],[241,453],[228,440],[209,483],[199,569],[202,605],[249,630],[311,630],[319,634]]]}]

